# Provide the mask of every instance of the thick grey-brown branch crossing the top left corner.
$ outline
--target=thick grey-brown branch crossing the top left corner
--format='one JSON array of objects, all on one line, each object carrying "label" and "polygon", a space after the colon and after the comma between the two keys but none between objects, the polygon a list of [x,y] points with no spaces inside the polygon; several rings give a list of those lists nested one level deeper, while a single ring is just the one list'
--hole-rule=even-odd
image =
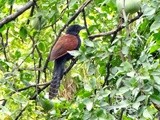
[{"label": "thick grey-brown branch crossing the top left corner", "polygon": [[34,1],[29,1],[28,3],[26,3],[26,5],[24,5],[21,9],[19,9],[16,13],[8,15],[4,19],[2,19],[0,21],[0,28],[3,27],[4,24],[7,24],[10,21],[15,20],[18,16],[20,16],[23,12],[25,12],[26,10],[28,10],[34,4],[35,4]]}]

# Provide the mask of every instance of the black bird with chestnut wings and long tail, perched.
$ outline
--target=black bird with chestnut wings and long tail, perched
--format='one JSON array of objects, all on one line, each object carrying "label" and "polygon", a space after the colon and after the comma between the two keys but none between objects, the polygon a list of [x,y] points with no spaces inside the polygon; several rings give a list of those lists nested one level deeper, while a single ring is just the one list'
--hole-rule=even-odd
[{"label": "black bird with chestnut wings and long tail, perched", "polygon": [[73,56],[68,51],[78,50],[81,45],[79,32],[85,29],[78,24],[70,25],[66,33],[59,37],[52,47],[50,61],[54,61],[53,77],[49,88],[49,99],[56,97],[60,86],[60,81],[64,75],[65,63]]}]

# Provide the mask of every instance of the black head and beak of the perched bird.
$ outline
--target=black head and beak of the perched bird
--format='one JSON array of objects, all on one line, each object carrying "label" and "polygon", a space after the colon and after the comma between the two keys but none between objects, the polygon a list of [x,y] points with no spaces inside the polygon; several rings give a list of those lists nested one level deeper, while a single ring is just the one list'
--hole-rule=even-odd
[{"label": "black head and beak of the perched bird", "polygon": [[77,35],[82,29],[85,29],[85,27],[75,24],[75,25],[69,26],[66,30],[66,33]]}]

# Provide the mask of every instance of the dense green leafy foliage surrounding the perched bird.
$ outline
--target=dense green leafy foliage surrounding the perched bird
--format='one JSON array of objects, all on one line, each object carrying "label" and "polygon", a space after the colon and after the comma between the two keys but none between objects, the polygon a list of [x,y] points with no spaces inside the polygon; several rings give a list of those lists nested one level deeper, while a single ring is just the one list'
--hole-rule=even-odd
[{"label": "dense green leafy foliage surrounding the perched bird", "polygon": [[[86,22],[88,26],[88,32],[80,33],[80,50],[71,52],[78,56],[78,62],[63,78],[59,96],[48,99],[45,85],[52,78],[53,62],[48,63],[46,71],[43,68],[50,48],[84,2],[40,0],[0,27],[1,119],[158,119],[158,0],[143,0],[143,15],[131,24],[127,21],[138,14],[127,16],[122,24],[115,0],[94,0],[85,6],[85,14],[81,11],[71,21],[81,25]],[[26,3],[27,0],[0,0],[0,23]],[[122,28],[113,32],[118,26]],[[101,34],[108,31],[111,33]],[[105,80],[107,85],[103,86]]]}]

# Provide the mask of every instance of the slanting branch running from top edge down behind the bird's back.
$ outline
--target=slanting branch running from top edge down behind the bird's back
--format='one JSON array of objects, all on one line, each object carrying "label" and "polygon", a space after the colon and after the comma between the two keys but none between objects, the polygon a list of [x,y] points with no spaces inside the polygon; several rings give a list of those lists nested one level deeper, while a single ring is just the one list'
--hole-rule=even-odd
[{"label": "slanting branch running from top edge down behind the bird's back", "polygon": [[[77,16],[82,12],[82,10],[91,2],[92,0],[86,0],[79,8],[78,10],[75,12],[75,14],[68,20],[68,22],[60,29],[58,35],[57,35],[57,38],[56,38],[56,41],[58,40],[58,38],[60,37],[60,35],[62,34],[62,32],[64,31],[64,29],[72,22],[74,21]],[[54,46],[54,44],[52,45],[52,47]],[[52,47],[50,49],[50,53],[51,53],[51,50],[52,50]],[[50,57],[50,54],[48,55],[47,57],[47,60],[45,62],[45,65],[44,65],[44,68],[43,68],[43,71],[45,72],[46,69],[47,69],[47,66],[48,66],[48,62],[49,62],[49,57]]]}]

